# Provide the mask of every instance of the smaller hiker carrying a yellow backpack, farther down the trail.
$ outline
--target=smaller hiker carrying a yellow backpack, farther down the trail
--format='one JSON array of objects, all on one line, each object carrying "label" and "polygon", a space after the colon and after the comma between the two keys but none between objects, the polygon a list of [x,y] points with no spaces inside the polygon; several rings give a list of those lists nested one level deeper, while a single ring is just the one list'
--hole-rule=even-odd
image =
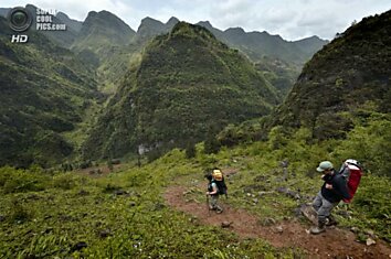
[{"label": "smaller hiker carrying a yellow backpack, farther down the trail", "polygon": [[220,169],[213,169],[212,173],[207,173],[205,179],[208,179],[208,192],[207,192],[207,203],[209,211],[215,211],[216,213],[222,213],[223,208],[219,205],[219,196],[226,194],[226,185],[224,182],[224,175]]}]

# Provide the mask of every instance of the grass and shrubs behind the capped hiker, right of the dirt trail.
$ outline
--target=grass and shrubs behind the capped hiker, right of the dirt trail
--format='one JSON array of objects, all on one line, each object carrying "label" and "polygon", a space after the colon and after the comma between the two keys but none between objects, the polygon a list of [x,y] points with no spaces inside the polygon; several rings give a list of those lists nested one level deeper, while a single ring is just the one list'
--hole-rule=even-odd
[{"label": "grass and shrubs behind the capped hiker, right of the dirt trail", "polygon": [[[229,179],[230,204],[234,203],[255,213],[262,222],[268,217],[276,220],[292,219],[295,208],[311,202],[323,184],[315,170],[320,161],[330,160],[338,169],[348,158],[361,159],[364,175],[359,191],[351,204],[341,203],[337,207],[337,218],[341,227],[357,227],[361,233],[372,229],[391,240],[391,175],[384,174],[389,172],[390,165],[389,160],[384,160],[387,150],[378,151],[379,143],[390,143],[387,140],[391,129],[389,123],[390,117],[376,122],[371,120],[368,128],[357,125],[348,133],[347,140],[320,142],[311,141],[310,130],[306,128],[289,134],[282,133],[281,128],[274,128],[267,141],[242,144],[234,149],[223,148],[216,155],[198,155],[198,161],[203,165],[210,161],[221,168],[239,170],[237,174]],[[376,133],[374,129],[378,129]],[[371,137],[368,138],[368,134]],[[372,141],[363,145],[363,139]],[[279,165],[282,161],[288,161],[287,175],[284,175]],[[287,197],[285,193],[278,192],[281,188],[290,190],[300,198]]]}]

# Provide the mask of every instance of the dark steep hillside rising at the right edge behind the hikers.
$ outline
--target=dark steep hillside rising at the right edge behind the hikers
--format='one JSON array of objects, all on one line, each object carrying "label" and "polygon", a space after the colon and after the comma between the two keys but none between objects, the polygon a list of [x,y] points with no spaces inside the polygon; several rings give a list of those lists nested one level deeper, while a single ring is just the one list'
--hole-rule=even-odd
[{"label": "dark steep hillside rising at the right edge behind the hikers", "polygon": [[272,126],[304,126],[317,139],[344,139],[353,123],[346,114],[390,112],[390,17],[388,11],[363,19],[314,55]]}]

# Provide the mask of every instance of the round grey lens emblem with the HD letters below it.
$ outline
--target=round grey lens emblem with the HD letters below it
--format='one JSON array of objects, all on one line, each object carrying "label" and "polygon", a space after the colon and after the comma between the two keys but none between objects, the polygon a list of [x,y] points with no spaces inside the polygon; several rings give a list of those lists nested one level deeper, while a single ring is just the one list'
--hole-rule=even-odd
[{"label": "round grey lens emblem with the HD letters below it", "polygon": [[[7,18],[10,28],[17,33],[27,31],[32,24],[32,15],[25,8],[12,8]],[[25,43],[28,41],[29,36],[24,34],[13,34],[11,36],[12,43]]]}]

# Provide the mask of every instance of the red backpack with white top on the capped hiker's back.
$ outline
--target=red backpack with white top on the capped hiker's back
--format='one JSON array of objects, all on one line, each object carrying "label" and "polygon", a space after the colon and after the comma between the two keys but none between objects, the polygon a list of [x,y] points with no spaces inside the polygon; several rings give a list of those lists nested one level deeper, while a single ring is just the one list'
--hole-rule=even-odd
[{"label": "red backpack with white top on the capped hiker's back", "polygon": [[360,184],[361,176],[362,176],[362,166],[360,163],[353,159],[348,159],[342,163],[339,173],[344,175],[346,179],[350,198],[344,198],[345,203],[350,203],[353,199],[356,191]]}]

